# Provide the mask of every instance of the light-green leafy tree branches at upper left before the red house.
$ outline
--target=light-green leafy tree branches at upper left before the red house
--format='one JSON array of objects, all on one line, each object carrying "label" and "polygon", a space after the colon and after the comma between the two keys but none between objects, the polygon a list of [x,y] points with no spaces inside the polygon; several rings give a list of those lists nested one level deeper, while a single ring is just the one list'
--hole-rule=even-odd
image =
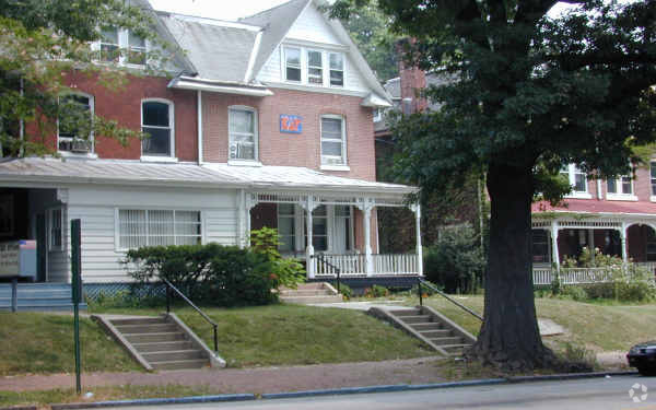
[{"label": "light-green leafy tree branches at upper left before the red house", "polygon": [[[127,143],[140,132],[124,129],[115,120],[95,116],[89,120],[74,98],[61,99],[72,90],[68,74],[97,77],[110,89],[126,85],[129,74],[109,65],[95,65],[91,42],[103,30],[129,28],[147,38],[150,71],[164,63],[166,45],[155,37],[153,21],[139,4],[122,0],[0,0],[0,144],[10,156],[50,153],[45,138],[55,132],[57,119],[81,138],[94,134]],[[154,49],[159,51],[155,51]],[[126,52],[118,50],[117,52]],[[132,73],[134,74],[134,73]]]}]

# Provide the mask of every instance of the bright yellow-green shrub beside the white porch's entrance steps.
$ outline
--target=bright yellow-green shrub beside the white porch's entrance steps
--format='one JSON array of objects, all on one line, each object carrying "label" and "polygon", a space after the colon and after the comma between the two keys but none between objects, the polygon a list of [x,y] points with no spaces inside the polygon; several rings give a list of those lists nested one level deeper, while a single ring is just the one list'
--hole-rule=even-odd
[{"label": "bright yellow-green shrub beside the white porch's entrance steps", "polygon": [[272,272],[280,285],[296,289],[305,282],[306,273],[303,265],[295,258],[283,258],[278,251],[280,235],[278,230],[262,227],[250,231],[250,247],[255,253],[263,255],[272,263]]}]

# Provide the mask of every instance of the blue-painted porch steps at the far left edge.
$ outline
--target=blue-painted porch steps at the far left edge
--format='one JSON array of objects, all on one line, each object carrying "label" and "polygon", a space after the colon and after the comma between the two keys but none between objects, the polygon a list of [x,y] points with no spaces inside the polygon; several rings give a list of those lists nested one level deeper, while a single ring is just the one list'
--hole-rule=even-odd
[{"label": "blue-painted porch steps at the far left edge", "polygon": [[[11,283],[0,283],[0,311],[11,311]],[[16,288],[19,312],[72,311],[71,285],[69,283],[19,283]],[[80,309],[86,309],[81,303]]]}]

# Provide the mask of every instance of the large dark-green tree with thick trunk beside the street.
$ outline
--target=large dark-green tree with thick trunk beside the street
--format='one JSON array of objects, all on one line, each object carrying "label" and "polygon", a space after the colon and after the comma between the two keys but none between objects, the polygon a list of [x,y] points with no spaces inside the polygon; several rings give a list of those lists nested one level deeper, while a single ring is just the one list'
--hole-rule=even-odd
[{"label": "large dark-green tree with thick trunk beside the street", "polygon": [[[363,2],[340,0],[333,13]],[[554,364],[536,319],[531,200],[558,200],[554,176],[569,163],[590,177],[630,174],[634,148],[656,139],[656,1],[569,0],[578,8],[548,16],[557,2],[379,0],[393,28],[417,39],[410,58],[457,79],[426,93],[441,110],[395,127],[398,171],[424,195],[485,169],[485,319],[469,354],[509,370]]]}]

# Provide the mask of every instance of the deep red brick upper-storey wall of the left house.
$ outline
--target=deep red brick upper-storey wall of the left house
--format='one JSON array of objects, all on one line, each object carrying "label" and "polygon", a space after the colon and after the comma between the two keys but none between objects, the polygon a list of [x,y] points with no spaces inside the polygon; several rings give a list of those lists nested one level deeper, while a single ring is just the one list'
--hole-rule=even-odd
[{"label": "deep red brick upper-storey wall of the left house", "polygon": [[[163,98],[174,103],[175,114],[175,155],[179,161],[198,161],[196,92],[172,90],[166,85],[168,79],[160,77],[129,77],[125,86],[108,89],[103,86],[96,75],[71,73],[67,83],[70,87],[91,94],[94,97],[94,110],[97,116],[115,119],[122,127],[141,129],[141,101]],[[57,136],[47,139],[50,148],[56,148]],[[110,138],[95,137],[95,152],[102,159],[139,160],[141,144],[133,140],[128,147],[121,147]]]}]

